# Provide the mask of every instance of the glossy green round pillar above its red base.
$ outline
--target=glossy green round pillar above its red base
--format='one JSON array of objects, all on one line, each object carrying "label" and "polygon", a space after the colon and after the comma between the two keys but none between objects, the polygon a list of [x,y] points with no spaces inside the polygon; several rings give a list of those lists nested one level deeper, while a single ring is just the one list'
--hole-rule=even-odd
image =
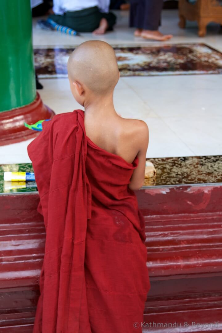
[{"label": "glossy green round pillar above its red base", "polygon": [[30,0],[1,0],[0,112],[36,98]]}]

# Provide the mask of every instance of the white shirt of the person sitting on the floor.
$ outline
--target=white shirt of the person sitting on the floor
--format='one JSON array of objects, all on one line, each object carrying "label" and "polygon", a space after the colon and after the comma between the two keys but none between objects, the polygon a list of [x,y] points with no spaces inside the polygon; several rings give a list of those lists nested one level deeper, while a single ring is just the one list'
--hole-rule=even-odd
[{"label": "white shirt of the person sitting on the floor", "polygon": [[108,13],[110,0],[53,0],[53,11],[63,15],[67,11],[76,11],[97,6],[101,12]]}]

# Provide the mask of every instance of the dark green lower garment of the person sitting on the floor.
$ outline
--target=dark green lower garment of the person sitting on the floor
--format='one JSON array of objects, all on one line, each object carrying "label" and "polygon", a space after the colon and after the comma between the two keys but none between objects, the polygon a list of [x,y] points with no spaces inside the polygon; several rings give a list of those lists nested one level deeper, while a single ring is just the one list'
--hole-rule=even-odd
[{"label": "dark green lower garment of the person sitting on the floor", "polygon": [[109,24],[108,30],[112,30],[116,22],[116,16],[109,13],[101,13],[98,7],[91,7],[74,12],[66,12],[63,15],[49,15],[54,22],[69,27],[78,32],[92,32],[99,27],[102,18],[106,18]]}]

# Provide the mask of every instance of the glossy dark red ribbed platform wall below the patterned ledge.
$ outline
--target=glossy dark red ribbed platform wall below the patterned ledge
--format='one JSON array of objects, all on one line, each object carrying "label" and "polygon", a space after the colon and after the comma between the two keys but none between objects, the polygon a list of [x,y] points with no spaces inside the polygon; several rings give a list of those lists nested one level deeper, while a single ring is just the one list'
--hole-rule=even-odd
[{"label": "glossy dark red ribbed platform wall below the patterned ledge", "polygon": [[[147,186],[136,195],[151,282],[143,333],[209,331],[192,322],[222,332],[222,183]],[[0,333],[33,330],[45,245],[38,202],[38,192],[0,195]]]}]

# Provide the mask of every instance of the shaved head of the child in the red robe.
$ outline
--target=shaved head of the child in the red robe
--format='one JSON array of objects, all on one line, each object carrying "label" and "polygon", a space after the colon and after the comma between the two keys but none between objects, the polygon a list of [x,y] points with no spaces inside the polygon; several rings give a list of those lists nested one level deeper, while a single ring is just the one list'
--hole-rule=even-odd
[{"label": "shaved head of the child in the red robe", "polygon": [[115,52],[102,41],[80,44],[70,55],[67,67],[72,82],[97,95],[111,92],[119,79]]}]

